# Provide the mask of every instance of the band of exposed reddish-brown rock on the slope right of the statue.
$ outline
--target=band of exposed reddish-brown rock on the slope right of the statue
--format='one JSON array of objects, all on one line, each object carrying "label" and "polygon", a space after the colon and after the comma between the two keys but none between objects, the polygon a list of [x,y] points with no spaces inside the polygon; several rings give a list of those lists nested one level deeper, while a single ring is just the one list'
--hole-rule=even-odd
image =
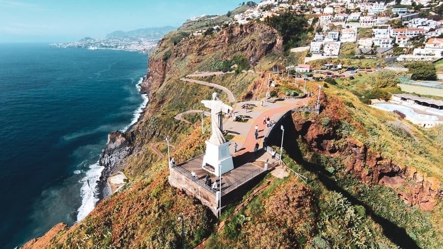
[{"label": "band of exposed reddish-brown rock on the slope right of the statue", "polygon": [[[293,118],[297,133],[310,148],[332,157],[342,156],[346,172],[366,183],[389,186],[410,205],[418,205],[423,210],[435,207],[440,190],[436,178],[428,177],[414,167],[397,165],[370,150],[364,143],[350,137],[343,138],[336,129],[325,129],[316,120],[301,121],[295,115]],[[339,140],[344,142],[337,143]]]}]

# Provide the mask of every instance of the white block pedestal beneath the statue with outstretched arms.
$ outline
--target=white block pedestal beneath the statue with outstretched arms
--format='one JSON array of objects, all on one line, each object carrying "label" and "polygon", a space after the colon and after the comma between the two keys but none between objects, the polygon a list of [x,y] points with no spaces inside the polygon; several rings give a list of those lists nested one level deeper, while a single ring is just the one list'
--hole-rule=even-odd
[{"label": "white block pedestal beneath the statue with outstretched arms", "polygon": [[[229,145],[231,142],[227,142],[221,145],[213,144],[209,141],[205,141],[206,143],[206,153],[203,157],[202,168],[205,169],[205,165],[210,165],[214,168],[214,171],[211,173],[216,176],[220,176],[225,174],[226,172],[234,169],[234,162],[232,161],[232,155],[229,152]],[[221,172],[220,166],[221,165]]]}]

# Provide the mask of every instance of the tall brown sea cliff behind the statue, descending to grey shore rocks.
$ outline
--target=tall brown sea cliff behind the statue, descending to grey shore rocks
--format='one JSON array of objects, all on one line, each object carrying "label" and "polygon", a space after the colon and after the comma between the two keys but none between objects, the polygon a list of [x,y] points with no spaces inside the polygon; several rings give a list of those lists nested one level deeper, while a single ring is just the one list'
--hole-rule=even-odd
[{"label": "tall brown sea cliff behind the statue, descending to grey shore rocks", "polygon": [[[100,164],[106,167],[102,178],[123,168],[122,160],[132,153],[143,152],[142,147],[152,138],[163,138],[165,133],[178,129],[172,127],[170,117],[159,113],[175,108],[169,103],[172,99],[186,102],[192,97],[183,96],[183,88],[177,87],[180,77],[210,70],[208,64],[230,59],[234,54],[242,54],[254,66],[269,53],[280,53],[282,42],[276,30],[261,23],[231,26],[208,36],[192,37],[181,32],[165,36],[150,56],[148,73],[141,85],[141,93],[149,95],[145,114],[131,131],[109,135],[100,159]],[[187,104],[196,103],[198,100],[192,98]]]}]

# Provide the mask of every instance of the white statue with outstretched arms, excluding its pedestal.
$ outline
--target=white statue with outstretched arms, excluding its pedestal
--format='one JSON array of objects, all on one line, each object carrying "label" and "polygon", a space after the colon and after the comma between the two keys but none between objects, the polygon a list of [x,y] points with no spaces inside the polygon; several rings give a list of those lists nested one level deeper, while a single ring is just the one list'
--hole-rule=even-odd
[{"label": "white statue with outstretched arms, excluding its pedestal", "polygon": [[216,92],[212,94],[212,100],[202,100],[202,103],[211,109],[212,135],[209,141],[215,145],[226,143],[223,136],[223,113],[229,113],[232,107],[221,102]]}]

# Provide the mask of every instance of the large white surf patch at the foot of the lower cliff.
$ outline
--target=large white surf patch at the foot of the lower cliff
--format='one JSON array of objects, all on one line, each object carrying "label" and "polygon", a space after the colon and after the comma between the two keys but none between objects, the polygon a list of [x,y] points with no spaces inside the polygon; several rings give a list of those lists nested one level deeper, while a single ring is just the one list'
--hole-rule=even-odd
[{"label": "large white surf patch at the foot of the lower cliff", "polygon": [[78,208],[77,222],[85,219],[85,217],[94,209],[98,201],[97,181],[100,179],[103,166],[98,162],[89,166],[86,176],[80,180],[83,183],[80,189],[81,206]]}]

